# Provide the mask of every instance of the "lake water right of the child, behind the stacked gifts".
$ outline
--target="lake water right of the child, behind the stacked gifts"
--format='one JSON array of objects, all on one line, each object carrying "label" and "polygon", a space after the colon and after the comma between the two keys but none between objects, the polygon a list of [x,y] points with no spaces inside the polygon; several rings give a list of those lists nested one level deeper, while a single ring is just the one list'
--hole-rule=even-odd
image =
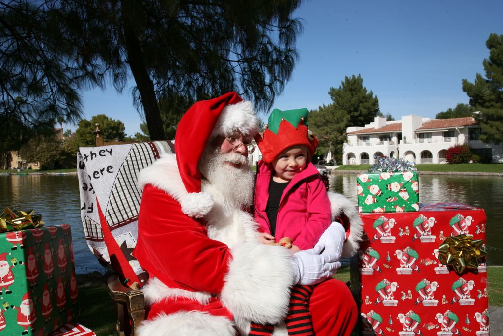
[{"label": "lake water right of the child, behind the stacked gifts", "polygon": [[[356,174],[330,176],[330,189],[357,201]],[[481,207],[487,216],[488,263],[503,265],[503,178],[500,176],[420,175],[420,203],[457,201]]]}]

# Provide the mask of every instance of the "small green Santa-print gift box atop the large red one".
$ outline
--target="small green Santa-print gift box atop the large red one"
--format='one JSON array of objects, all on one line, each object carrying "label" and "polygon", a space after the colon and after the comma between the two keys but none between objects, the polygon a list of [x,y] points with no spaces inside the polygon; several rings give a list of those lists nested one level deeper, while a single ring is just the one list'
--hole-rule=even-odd
[{"label": "small green Santa-print gift box atop the large red one", "polygon": [[415,171],[360,173],[356,185],[360,213],[419,209],[419,184]]}]

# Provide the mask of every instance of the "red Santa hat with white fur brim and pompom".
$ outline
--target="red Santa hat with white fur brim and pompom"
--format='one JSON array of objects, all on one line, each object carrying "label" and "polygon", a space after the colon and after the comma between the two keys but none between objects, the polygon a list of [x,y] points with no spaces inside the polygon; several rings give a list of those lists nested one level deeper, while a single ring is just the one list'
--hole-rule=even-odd
[{"label": "red Santa hat with white fur brim and pompom", "polygon": [[243,101],[235,92],[198,101],[185,112],[175,136],[178,169],[188,192],[180,200],[185,214],[202,217],[213,206],[211,196],[201,192],[201,172],[198,167],[206,145],[217,136],[240,133],[254,137],[259,125],[253,104]]}]

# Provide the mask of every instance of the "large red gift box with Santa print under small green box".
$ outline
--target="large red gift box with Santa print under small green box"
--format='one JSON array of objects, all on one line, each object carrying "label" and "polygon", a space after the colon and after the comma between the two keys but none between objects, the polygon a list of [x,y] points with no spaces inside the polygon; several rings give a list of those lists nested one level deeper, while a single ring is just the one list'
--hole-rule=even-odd
[{"label": "large red gift box with Santa print under small green box", "polygon": [[438,259],[447,236],[482,240],[484,247],[483,209],[438,203],[360,218],[366,237],[352,268],[360,283],[352,285],[361,299],[362,334],[489,335],[485,258],[462,273]]}]

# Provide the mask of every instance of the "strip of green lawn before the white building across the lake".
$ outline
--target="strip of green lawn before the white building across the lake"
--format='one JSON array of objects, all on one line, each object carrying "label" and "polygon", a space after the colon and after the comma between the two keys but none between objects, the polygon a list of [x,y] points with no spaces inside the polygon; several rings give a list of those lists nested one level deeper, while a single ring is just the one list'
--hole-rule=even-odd
[{"label": "strip of green lawn before the white building across the lake", "polygon": [[[336,168],[336,170],[361,170],[366,171],[371,165],[346,165]],[[488,173],[503,173],[503,164],[478,164],[478,163],[463,163],[459,165],[438,165],[438,164],[420,164],[415,165],[418,171],[439,171],[439,172],[488,172]]]}]

